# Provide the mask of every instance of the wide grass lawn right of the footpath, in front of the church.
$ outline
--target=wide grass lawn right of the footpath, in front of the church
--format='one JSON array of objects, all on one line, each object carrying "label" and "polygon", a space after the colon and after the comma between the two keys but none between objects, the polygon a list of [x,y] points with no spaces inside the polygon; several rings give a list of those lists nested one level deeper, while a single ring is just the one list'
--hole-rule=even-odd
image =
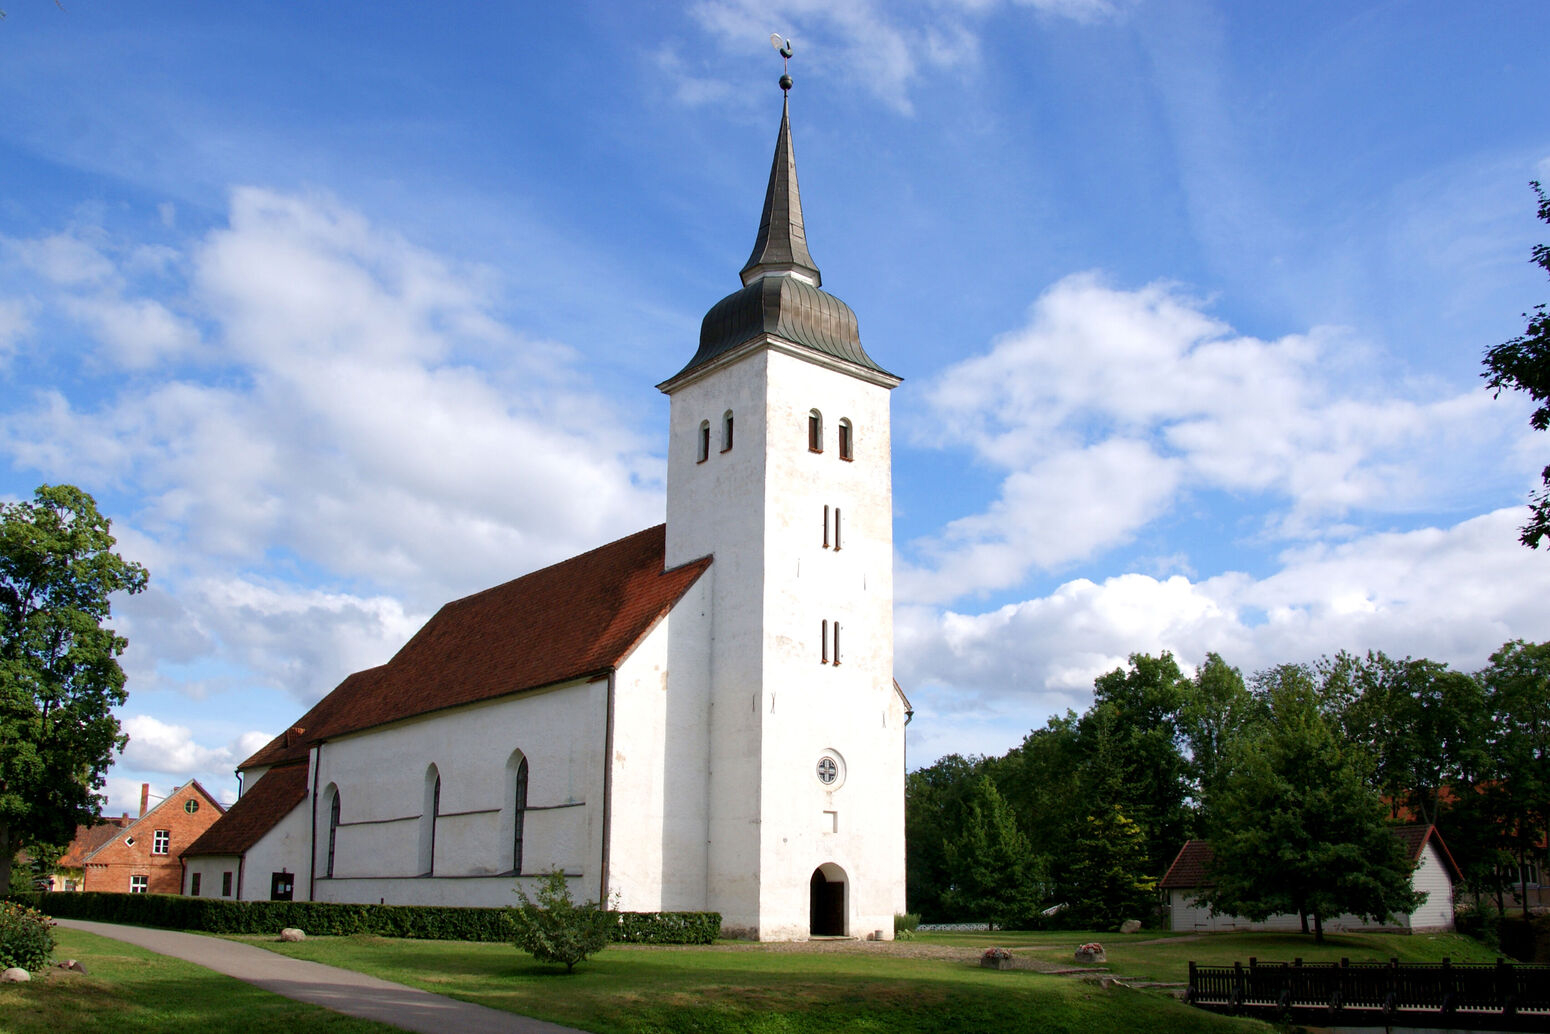
[{"label": "wide grass lawn right of the footpath, in front of the church", "polygon": [[1271,1031],[1156,992],[908,958],[887,946],[863,952],[612,947],[567,975],[505,944],[239,939],[598,1034]]}]

